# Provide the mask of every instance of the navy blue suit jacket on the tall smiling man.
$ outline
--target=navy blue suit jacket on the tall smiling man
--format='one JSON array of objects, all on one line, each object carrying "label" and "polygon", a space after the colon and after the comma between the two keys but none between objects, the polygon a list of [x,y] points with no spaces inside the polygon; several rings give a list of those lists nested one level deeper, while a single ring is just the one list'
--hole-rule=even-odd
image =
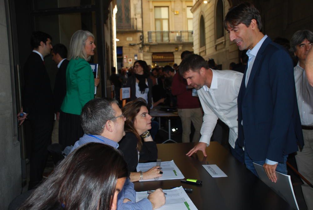
[{"label": "navy blue suit jacket on the tall smiling man", "polygon": [[245,146],[254,161],[282,162],[283,156],[303,146],[292,60],[284,48],[266,38],[247,87],[246,71],[238,95],[239,146]]}]

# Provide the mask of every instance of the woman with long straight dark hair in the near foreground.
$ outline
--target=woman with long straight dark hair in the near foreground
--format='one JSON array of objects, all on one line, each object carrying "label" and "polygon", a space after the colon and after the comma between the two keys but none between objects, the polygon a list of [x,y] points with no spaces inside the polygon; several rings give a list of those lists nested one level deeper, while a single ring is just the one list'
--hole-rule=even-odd
[{"label": "woman with long straight dark hair in the near foreground", "polygon": [[19,209],[115,210],[127,176],[120,151],[88,143],[60,162]]}]

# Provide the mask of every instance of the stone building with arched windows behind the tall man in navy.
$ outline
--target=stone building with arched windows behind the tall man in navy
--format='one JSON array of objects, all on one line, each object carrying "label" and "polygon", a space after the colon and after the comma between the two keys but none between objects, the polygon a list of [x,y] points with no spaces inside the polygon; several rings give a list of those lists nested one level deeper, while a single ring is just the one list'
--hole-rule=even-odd
[{"label": "stone building with arched windows behind the tall man in navy", "polygon": [[[223,27],[223,18],[229,8],[237,5],[238,0],[193,0],[193,49],[204,59],[213,58],[222,69],[229,69],[231,62],[239,63],[239,50],[229,41]],[[264,34],[272,40],[277,37],[287,38],[301,29],[313,31],[313,15],[309,9],[310,0],[254,0],[261,13]],[[222,33],[223,31],[223,33]]]}]

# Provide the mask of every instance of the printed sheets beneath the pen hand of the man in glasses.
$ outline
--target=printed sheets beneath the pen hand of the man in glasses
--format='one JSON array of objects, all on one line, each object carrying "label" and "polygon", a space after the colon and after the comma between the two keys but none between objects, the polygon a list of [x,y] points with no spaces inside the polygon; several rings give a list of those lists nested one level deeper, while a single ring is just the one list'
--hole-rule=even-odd
[{"label": "printed sheets beneath the pen hand of the man in glasses", "polygon": [[[182,186],[170,190],[163,190],[163,192],[167,193],[167,195],[165,195],[165,205],[158,208],[159,210],[198,210]],[[147,191],[136,192],[136,202],[147,198],[148,195]]]}]

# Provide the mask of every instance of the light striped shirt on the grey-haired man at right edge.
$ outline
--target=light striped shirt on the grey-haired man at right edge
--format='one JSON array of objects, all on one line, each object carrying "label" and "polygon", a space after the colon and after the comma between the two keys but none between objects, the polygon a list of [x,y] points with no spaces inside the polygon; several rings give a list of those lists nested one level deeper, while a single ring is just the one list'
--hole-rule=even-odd
[{"label": "light striped shirt on the grey-haired man at right edge", "polygon": [[313,87],[306,78],[305,71],[299,62],[294,68],[295,91],[301,119],[301,125],[313,125]]}]

